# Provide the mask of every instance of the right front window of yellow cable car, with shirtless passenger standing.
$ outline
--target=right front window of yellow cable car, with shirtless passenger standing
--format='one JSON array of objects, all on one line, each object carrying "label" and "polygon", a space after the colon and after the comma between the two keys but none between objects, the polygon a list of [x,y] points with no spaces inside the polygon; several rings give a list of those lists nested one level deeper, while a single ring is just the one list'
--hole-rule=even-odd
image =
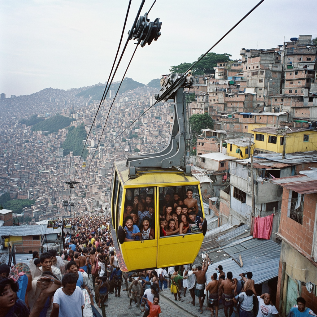
[{"label": "right front window of yellow cable car, with shirtless passenger standing", "polygon": [[202,232],[198,185],[159,187],[160,237]]}]

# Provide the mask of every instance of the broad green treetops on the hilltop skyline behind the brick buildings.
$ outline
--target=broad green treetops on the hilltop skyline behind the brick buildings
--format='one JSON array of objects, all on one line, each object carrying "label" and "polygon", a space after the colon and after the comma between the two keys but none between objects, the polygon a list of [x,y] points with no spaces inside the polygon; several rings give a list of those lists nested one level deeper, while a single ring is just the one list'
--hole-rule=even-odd
[{"label": "broad green treetops on the hilltop skyline behind the brick buildings", "polygon": [[[200,55],[202,56],[202,55]],[[200,58],[199,56],[199,58]],[[214,67],[217,67],[218,61],[230,61],[230,54],[217,54],[208,53],[201,61],[199,61],[192,69],[193,75],[213,74],[215,72]],[[198,58],[198,59],[199,59]],[[176,66],[171,66],[170,71],[172,73],[183,74],[194,63],[180,63]]]}]

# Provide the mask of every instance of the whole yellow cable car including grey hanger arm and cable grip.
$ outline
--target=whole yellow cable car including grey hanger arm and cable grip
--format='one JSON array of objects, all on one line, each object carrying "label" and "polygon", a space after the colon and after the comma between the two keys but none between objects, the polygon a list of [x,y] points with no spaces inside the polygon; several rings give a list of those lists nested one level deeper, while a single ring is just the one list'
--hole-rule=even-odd
[{"label": "whole yellow cable car including grey hanger arm and cable grip", "polygon": [[114,163],[111,233],[122,271],[192,263],[203,242],[199,181],[185,162],[191,136],[184,88],[192,84],[191,72],[161,79],[156,100],[174,99],[168,146]]}]

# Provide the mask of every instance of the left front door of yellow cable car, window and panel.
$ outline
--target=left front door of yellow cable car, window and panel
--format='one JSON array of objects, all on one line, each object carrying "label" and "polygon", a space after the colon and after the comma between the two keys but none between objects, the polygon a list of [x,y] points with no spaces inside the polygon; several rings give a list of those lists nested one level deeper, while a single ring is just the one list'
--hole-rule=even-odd
[{"label": "left front door of yellow cable car, window and panel", "polygon": [[154,188],[123,189],[120,224],[126,231],[126,238],[121,244],[121,252],[129,271],[156,268],[157,265],[157,217]]}]

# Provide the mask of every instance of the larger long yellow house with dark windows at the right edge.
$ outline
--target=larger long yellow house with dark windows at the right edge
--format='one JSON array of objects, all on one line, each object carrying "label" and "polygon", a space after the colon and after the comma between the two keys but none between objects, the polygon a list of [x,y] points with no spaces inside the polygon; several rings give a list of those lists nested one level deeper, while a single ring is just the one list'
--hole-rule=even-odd
[{"label": "larger long yellow house with dark windows at the right edge", "polygon": [[306,128],[276,128],[274,126],[256,128],[254,150],[256,152],[285,153],[317,150],[317,131]]}]

